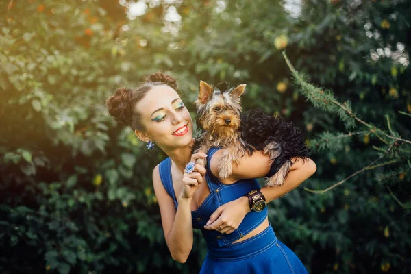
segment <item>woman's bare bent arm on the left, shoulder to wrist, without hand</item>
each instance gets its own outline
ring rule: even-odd
[[[174,201],[164,189],[158,166],[153,170],[153,186],[160,206],[162,227],[171,257],[177,262],[186,262],[192,249],[191,198],[179,199],[177,210]]]

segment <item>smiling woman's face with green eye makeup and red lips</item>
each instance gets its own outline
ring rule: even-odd
[[[169,86],[154,86],[136,104],[145,134],[162,149],[192,142],[192,119],[182,99]]]

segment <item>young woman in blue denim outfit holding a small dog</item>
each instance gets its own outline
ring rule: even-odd
[[[199,228],[208,246],[201,273],[307,273],[276,238],[264,200],[269,203],[299,186],[316,171],[314,162],[294,158],[283,186],[260,189],[253,178],[264,177],[270,166],[257,151],[233,165],[229,178],[220,179],[216,166],[223,149],[191,154],[192,119],[176,90],[175,79],[155,73],[134,90],[117,89],[106,102],[116,121],[132,127],[147,147],[155,143],[169,155],[155,166],[153,186],[173,259],[186,262],[192,229]],[[206,168],[186,168],[198,158],[206,158]]]

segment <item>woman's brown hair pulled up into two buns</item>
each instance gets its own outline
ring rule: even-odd
[[[145,83],[138,88],[117,88],[114,95],[105,100],[108,113],[122,125],[129,125],[132,129],[142,130],[141,114],[134,110],[136,103],[145,97],[153,86],[167,85],[177,91],[177,82],[169,75],[154,73],[145,79]]]

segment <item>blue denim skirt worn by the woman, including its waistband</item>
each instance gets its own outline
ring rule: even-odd
[[[200,274],[308,274],[294,252],[280,242],[269,225],[263,232],[223,247],[208,246]]]

